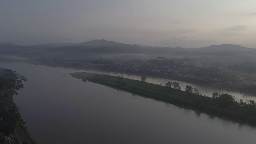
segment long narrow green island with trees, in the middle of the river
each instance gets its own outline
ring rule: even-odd
[[[229,94],[213,93],[212,97],[203,96],[199,90],[186,86],[185,91],[178,88],[177,82],[166,83],[166,86],[146,83],[143,80],[120,79],[116,76],[72,73],[72,76],[98,84],[118,88],[144,97],[163,102],[200,110],[207,114],[223,116],[240,122],[256,125],[256,102],[254,100],[236,101]]]

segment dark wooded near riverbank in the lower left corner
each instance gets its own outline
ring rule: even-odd
[[[13,102],[12,96],[17,77],[11,73],[12,70],[0,68],[0,143],[5,144],[6,138],[4,137],[7,136],[14,144],[19,142],[22,142],[22,144],[36,144],[36,141],[30,136],[16,104]]]

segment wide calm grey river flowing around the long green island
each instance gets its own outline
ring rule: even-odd
[[[96,72],[137,80],[140,76],[19,62],[0,63],[0,67],[28,79],[14,102],[38,144],[254,144],[256,140],[254,126],[83,82],[69,73]],[[147,78],[155,84],[168,81],[174,80]],[[179,83],[184,89],[186,83]],[[206,95],[227,92],[192,86]],[[238,99],[256,99],[228,93]]]

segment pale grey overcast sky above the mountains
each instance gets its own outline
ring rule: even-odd
[[[256,48],[256,0],[0,0],[0,42]]]

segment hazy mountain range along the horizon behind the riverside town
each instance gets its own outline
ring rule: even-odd
[[[29,58],[97,59],[124,55],[165,57],[239,57],[255,58],[256,49],[240,45],[222,44],[202,48],[152,47],[139,44],[122,44],[108,40],[92,40],[83,43],[40,44],[32,46],[0,45],[0,55]]]

